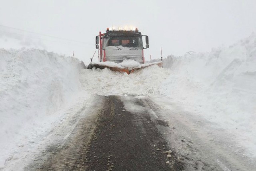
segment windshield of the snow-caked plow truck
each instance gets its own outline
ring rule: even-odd
[[[140,47],[140,37],[110,37],[106,38],[106,46]]]

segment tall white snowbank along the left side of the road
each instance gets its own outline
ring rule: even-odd
[[[0,49],[0,168],[45,131],[80,91],[79,60],[45,50]]]

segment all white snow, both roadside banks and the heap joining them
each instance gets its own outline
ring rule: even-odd
[[[38,144],[38,137],[69,114],[66,108],[81,103],[81,97],[87,103],[93,95],[150,96],[166,109],[175,104],[189,117],[231,132],[243,154],[255,158],[255,66],[255,34],[209,53],[168,56],[164,68],[151,66],[130,75],[83,70],[76,58],[44,50],[0,49],[0,168],[18,159],[20,148]]]

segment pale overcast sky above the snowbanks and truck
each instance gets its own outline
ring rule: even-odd
[[[67,56],[74,51],[85,63],[99,31],[134,26],[149,36],[150,48],[144,50],[149,60],[150,54],[160,58],[160,47],[164,57],[183,55],[250,36],[256,31],[256,0],[0,0],[0,25],[6,42],[0,48],[12,48],[6,47],[12,46],[8,37],[22,35],[48,51]]]

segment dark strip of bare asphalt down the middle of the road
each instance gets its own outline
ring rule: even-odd
[[[163,153],[169,147],[156,127],[162,122],[152,121],[149,113],[138,116],[126,111],[118,97],[105,98],[87,155],[83,156],[88,171],[183,170],[175,157]],[[140,100],[136,104],[142,105]]]

